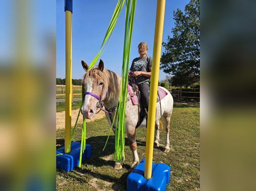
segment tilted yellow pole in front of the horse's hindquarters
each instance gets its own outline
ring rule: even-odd
[[[149,179],[152,176],[154,127],[155,127],[155,114],[156,114],[157,86],[158,86],[158,77],[159,77],[161,47],[162,47],[164,8],[165,8],[165,0],[158,0],[157,8],[156,8],[155,37],[154,37],[152,73],[151,73],[149,106],[148,106],[148,124],[147,124],[145,171],[144,171],[145,179]]]

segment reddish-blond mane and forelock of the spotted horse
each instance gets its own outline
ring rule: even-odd
[[[98,81],[103,82],[103,91],[100,93],[100,97],[102,97],[105,90],[107,90],[108,100],[118,99],[121,81],[120,76],[105,68],[101,71],[97,65],[85,73],[83,83],[87,82],[90,77],[93,81],[93,87],[97,85]]]

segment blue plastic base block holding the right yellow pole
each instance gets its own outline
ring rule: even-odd
[[[152,162],[152,177],[144,178],[145,158],[133,169],[127,177],[127,191],[153,191],[166,190],[170,180],[170,166],[163,163]]]

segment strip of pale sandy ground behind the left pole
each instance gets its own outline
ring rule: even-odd
[[[77,120],[77,115],[78,115],[79,109],[77,110],[72,110],[71,113],[71,127],[74,127],[76,120]],[[100,111],[99,113],[97,113],[93,119],[86,119],[87,122],[89,121],[93,121],[96,119],[100,119],[102,117],[105,117],[105,112],[104,111]],[[78,118],[78,124],[83,123],[83,115],[80,113],[79,118]],[[56,112],[56,129],[61,129],[61,128],[65,128],[65,111],[62,112]]]

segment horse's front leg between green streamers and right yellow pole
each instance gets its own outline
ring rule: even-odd
[[[134,169],[139,163],[139,157],[137,153],[137,143],[136,143],[136,130],[135,127],[127,128],[126,135],[129,141],[130,149],[133,154],[133,162],[130,166],[131,169]]]

